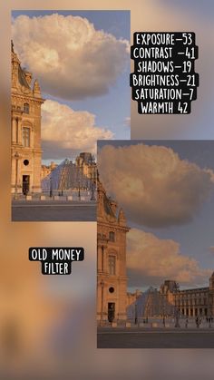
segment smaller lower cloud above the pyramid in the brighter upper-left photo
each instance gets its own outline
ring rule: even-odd
[[[72,157],[80,151],[96,151],[98,139],[112,139],[112,132],[95,126],[95,116],[73,111],[68,105],[46,100],[42,106],[44,159]]]

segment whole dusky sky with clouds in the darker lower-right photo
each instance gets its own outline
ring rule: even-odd
[[[99,141],[98,165],[128,225],[129,288],[209,285],[214,141]]]

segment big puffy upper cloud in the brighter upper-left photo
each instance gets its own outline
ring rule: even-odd
[[[73,15],[20,15],[12,26],[15,51],[45,93],[76,100],[109,91],[124,71],[129,43]]]

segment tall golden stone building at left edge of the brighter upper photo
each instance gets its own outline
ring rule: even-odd
[[[15,196],[41,191],[41,105],[37,80],[22,68],[11,44],[11,191]]]

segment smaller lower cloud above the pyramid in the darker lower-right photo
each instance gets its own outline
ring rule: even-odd
[[[194,258],[180,253],[180,244],[159,239],[140,229],[131,229],[127,236],[127,268],[131,287],[159,286],[164,279],[181,285],[208,283],[212,271],[199,268]]]

